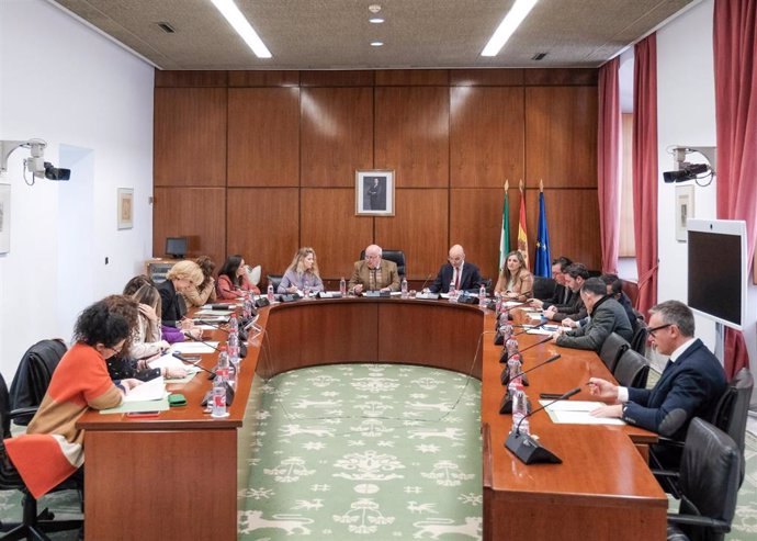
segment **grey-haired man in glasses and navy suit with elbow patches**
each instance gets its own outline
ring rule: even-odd
[[[682,440],[693,417],[710,419],[727,383],[720,361],[693,337],[691,309],[666,301],[649,311],[649,342],[670,360],[652,390],[626,388],[591,377],[591,394],[612,403],[592,412],[620,417],[662,436]]]

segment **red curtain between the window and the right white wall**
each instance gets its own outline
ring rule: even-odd
[[[633,214],[639,270],[636,308],[657,303],[657,36],[634,46]]]

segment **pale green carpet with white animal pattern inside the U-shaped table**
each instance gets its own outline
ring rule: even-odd
[[[240,540],[481,539],[478,381],[347,364],[253,393]]]

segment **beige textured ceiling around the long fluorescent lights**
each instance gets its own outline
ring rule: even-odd
[[[597,67],[694,0],[540,0],[493,58],[481,50],[513,0],[237,0],[270,59],[210,0],[50,1],[161,69],[231,70]],[[383,24],[369,22],[374,3]]]

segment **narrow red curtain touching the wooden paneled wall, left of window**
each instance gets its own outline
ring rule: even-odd
[[[618,273],[618,250],[620,247],[621,115],[619,68],[619,57],[599,68],[597,145],[599,228],[602,244],[602,271],[612,273]]]

